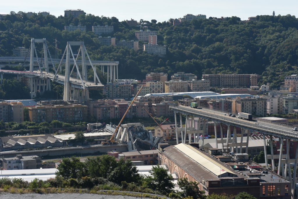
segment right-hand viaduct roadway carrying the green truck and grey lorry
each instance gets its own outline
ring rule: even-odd
[[[298,132],[293,131],[293,127],[291,126],[264,121],[257,118],[253,118],[252,121],[247,121],[238,118],[237,115],[236,117],[231,117],[228,115],[229,113],[227,112],[208,108],[195,109],[181,105],[178,107],[170,106],[169,108],[172,109],[174,112],[184,115],[192,115],[195,117],[209,119],[217,123],[223,123],[226,125],[262,132],[265,135],[273,135],[284,139],[292,139],[298,141]]]

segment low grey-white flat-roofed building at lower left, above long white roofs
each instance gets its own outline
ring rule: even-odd
[[[37,169],[41,165],[41,158],[37,155],[22,156],[16,155],[14,158],[3,158],[3,169]]]

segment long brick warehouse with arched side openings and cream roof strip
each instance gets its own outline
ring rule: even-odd
[[[179,178],[199,183],[206,195],[237,195],[247,192],[256,198],[291,198],[291,183],[269,172],[242,175],[194,146],[178,144],[159,150],[159,164]]]

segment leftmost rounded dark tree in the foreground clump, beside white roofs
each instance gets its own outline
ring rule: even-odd
[[[80,162],[80,159],[76,157],[63,158],[56,172],[56,176],[60,176],[64,179],[76,179],[86,176],[85,164]]]

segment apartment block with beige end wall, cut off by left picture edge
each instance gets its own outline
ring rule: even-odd
[[[21,102],[0,101],[0,120],[4,122],[24,121],[24,105]]]

